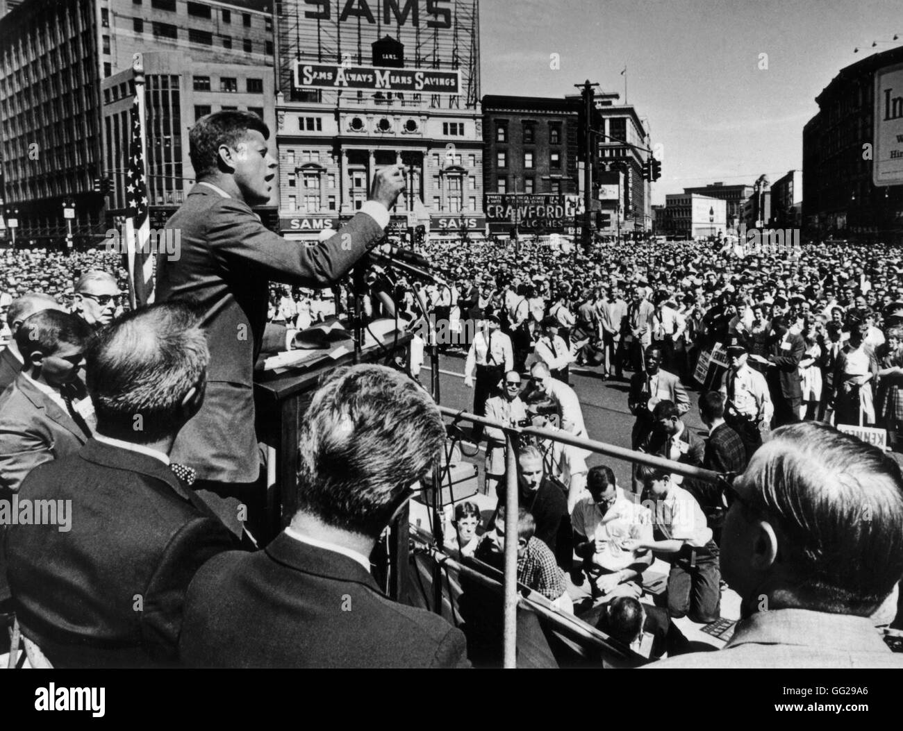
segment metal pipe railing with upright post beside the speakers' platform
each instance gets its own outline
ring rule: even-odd
[[[703,467],[694,467],[681,462],[675,462],[672,459],[656,457],[656,455],[646,454],[645,452],[634,451],[618,447],[605,442],[582,439],[574,437],[571,434],[562,431],[552,431],[547,429],[538,429],[536,427],[517,427],[509,426],[497,421],[491,421],[483,416],[474,413],[465,412],[457,409],[450,409],[447,406],[439,406],[439,411],[443,417],[452,418],[452,424],[460,421],[469,421],[473,424],[481,424],[484,427],[493,427],[501,430],[505,434],[506,441],[506,475],[505,475],[505,503],[507,505],[518,504],[517,489],[517,442],[522,437],[537,437],[542,440],[559,441],[563,444],[570,444],[573,447],[586,449],[597,454],[603,454],[607,457],[617,458],[633,462],[638,465],[647,465],[648,467],[660,467],[684,477],[692,477],[707,483],[717,483],[725,480],[726,475],[713,472],[711,469],[703,469]],[[437,468],[437,472],[439,469]],[[442,481],[438,479],[438,475],[433,482],[433,533],[437,538],[442,536]],[[505,534],[507,536],[517,535],[517,510],[505,511]],[[442,541],[436,541],[437,546],[442,546]],[[447,563],[449,559],[444,561],[437,560],[437,564]],[[456,568],[460,568],[460,564],[455,563]],[[441,581],[437,582],[441,593]],[[517,541],[505,541],[505,562],[503,572],[503,613],[504,613],[504,631],[502,638],[502,663],[505,668],[517,667]],[[435,588],[435,586],[434,586]],[[441,596],[441,594],[440,594]],[[452,597],[449,597],[450,601]],[[437,612],[442,612],[442,602],[435,602]],[[553,613],[546,613],[551,615]]]

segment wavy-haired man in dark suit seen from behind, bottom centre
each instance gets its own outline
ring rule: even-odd
[[[413,381],[340,368],[302,424],[298,505],[265,551],[215,557],[191,582],[182,660],[198,667],[466,667],[464,635],[396,604],[368,556],[445,438]]]

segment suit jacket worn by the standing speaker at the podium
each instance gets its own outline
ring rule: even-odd
[[[204,404],[179,433],[172,458],[197,469],[201,479],[253,482],[259,458],[252,375],[269,282],[325,287],[347,273],[383,229],[358,214],[321,244],[286,241],[246,203],[200,183],[166,227],[181,231],[181,249],[173,261],[158,254],[156,301],[197,302],[210,349]]]

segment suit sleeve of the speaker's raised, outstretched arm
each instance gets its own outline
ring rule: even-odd
[[[321,288],[335,282],[383,237],[383,229],[358,213],[329,239],[307,246],[267,229],[246,204],[222,199],[211,211],[207,238],[231,273],[265,275],[273,282]]]

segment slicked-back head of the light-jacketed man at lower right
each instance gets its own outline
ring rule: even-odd
[[[826,424],[788,425],[759,448],[735,489],[732,509],[747,524],[773,526],[777,554],[764,568],[750,561],[726,523],[729,583],[783,585],[801,608],[865,616],[903,577],[903,476],[880,449]]]

